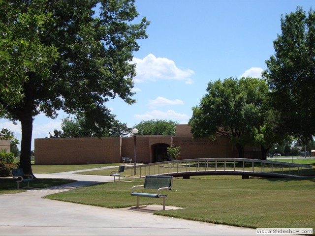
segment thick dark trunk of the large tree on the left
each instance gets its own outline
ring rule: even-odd
[[[31,148],[32,148],[32,129],[33,118],[32,113],[28,115],[24,114],[20,119],[22,126],[22,140],[21,140],[21,156],[20,156],[20,168],[23,169],[24,174],[32,175],[31,166]]]

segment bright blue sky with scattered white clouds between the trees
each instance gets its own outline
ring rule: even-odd
[[[210,81],[228,77],[260,77],[281,34],[281,15],[297,6],[309,11],[314,0],[136,0],[139,22],[151,21],[149,38],[134,53],[136,103],[109,101],[112,114],[128,127],[150,119],[187,124]],[[314,7],[313,7],[314,8]],[[33,139],[61,130],[57,119],[39,115]],[[0,119],[0,128],[21,140],[21,126]],[[32,149],[34,148],[32,142]]]

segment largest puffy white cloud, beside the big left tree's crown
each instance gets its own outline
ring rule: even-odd
[[[132,63],[136,64],[137,75],[135,82],[155,81],[157,79],[186,80],[192,83],[189,78],[194,72],[190,69],[182,70],[175,65],[173,60],[157,58],[149,54],[144,59],[133,58]],[[187,83],[186,82],[186,83]]]

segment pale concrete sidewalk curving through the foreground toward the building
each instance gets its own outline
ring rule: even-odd
[[[38,178],[73,178],[77,182],[34,189],[18,194],[0,195],[0,235],[256,235],[255,229],[215,225],[198,221],[153,215],[162,206],[146,210],[130,208],[109,209],[43,199],[58,193],[95,182],[113,181],[108,176],[58,173],[35,175]],[[88,194],[88,193],[87,193]],[[172,210],[172,207],[166,207]]]

